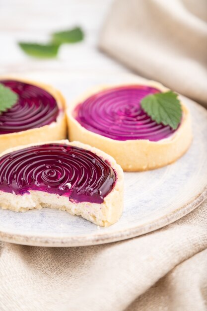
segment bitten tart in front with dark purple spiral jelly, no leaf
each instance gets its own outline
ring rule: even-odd
[[[122,214],[123,182],[111,156],[79,142],[30,144],[0,154],[0,207],[15,212],[49,207],[109,226]]]

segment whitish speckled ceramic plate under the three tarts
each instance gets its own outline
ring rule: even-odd
[[[143,82],[130,74],[33,72],[22,77],[58,87],[68,103],[97,84]],[[183,100],[193,119],[192,146],[186,155],[166,167],[125,173],[124,213],[117,224],[100,228],[81,217],[47,208],[26,213],[0,209],[0,239],[38,246],[101,244],[151,232],[194,210],[207,197],[207,110],[191,100]]]

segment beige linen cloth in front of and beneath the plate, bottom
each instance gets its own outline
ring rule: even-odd
[[[207,308],[207,201],[174,224],[126,241],[1,245],[0,311]]]

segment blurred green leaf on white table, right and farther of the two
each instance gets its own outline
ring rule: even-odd
[[[52,40],[56,44],[79,42],[83,40],[83,37],[84,34],[80,27],[75,27],[73,29],[60,32],[54,32],[52,34]]]

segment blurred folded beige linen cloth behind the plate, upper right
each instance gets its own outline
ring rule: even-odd
[[[207,106],[207,0],[116,0],[99,46]]]

